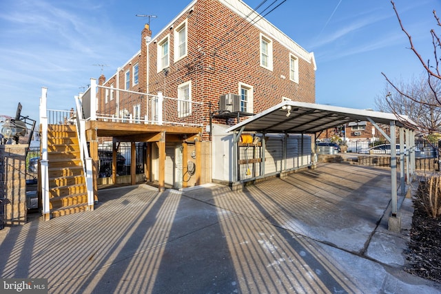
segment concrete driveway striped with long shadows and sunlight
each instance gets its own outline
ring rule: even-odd
[[[232,192],[99,191],[94,211],[0,231],[1,277],[49,293],[440,293],[402,271],[387,231],[390,171],[322,163]]]

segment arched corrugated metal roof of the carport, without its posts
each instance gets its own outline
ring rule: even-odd
[[[243,128],[245,132],[314,134],[324,129],[361,120],[386,125],[393,121],[398,127],[416,128],[416,124],[407,116],[365,109],[284,101],[226,131],[233,132]]]

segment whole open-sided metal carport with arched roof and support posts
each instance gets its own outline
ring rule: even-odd
[[[325,129],[362,120],[369,120],[391,145],[395,145],[398,139],[400,143],[400,196],[404,199],[415,172],[415,130],[417,128],[416,124],[407,116],[365,109],[284,101],[230,127],[226,132],[234,132],[232,156],[234,162],[237,162],[236,165],[239,165],[238,143],[243,138],[243,134],[261,134],[262,138],[265,138],[266,134],[285,134],[285,136],[288,134],[301,134],[302,136],[308,134],[316,136],[317,133]],[[380,125],[388,125],[390,134],[386,134]],[[262,145],[263,150],[265,150],[265,140],[262,140]],[[406,150],[404,150],[404,145],[407,146]],[[265,152],[262,152],[261,157],[262,162],[265,162]],[[315,156],[311,156],[311,158],[313,160],[311,165],[314,165]],[[238,170],[238,168],[234,169]],[[398,202],[397,176],[396,149],[391,148],[391,216],[389,218],[389,229],[392,231],[400,230],[398,211],[401,201]],[[234,180],[239,182],[237,173],[234,177]]]

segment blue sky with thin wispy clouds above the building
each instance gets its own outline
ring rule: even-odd
[[[263,6],[274,0],[267,1]],[[190,0],[0,0],[0,116],[39,120],[41,87],[48,109],[74,107],[90,78],[107,78],[139,49],[147,19],[153,36]],[[245,0],[256,8],[263,0]],[[424,60],[433,63],[430,30],[440,0],[395,0]],[[265,18],[316,58],[316,103],[376,109],[386,81],[411,81],[422,65],[409,50],[389,0],[276,0]],[[272,6],[272,8],[274,8]],[[267,10],[269,11],[269,10]],[[258,10],[260,12],[260,10]],[[266,12],[265,12],[266,13]]]

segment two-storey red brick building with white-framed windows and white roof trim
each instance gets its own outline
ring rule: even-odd
[[[210,109],[218,109],[221,95],[238,94],[241,111],[252,114],[283,99],[314,103],[315,70],[313,53],[243,1],[192,1],[154,36],[146,25],[139,52],[107,81],[100,77],[100,85],[131,92],[119,93],[116,110],[116,91],[101,91],[99,112],[143,118],[147,109],[136,105],[148,97],[136,92],[184,96],[203,103],[198,116],[186,115],[176,101],[165,103],[165,113],[177,114],[181,123],[203,125],[202,138],[208,140]],[[214,123],[236,121],[214,118]]]

